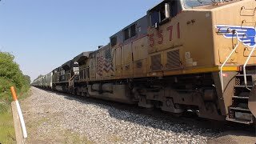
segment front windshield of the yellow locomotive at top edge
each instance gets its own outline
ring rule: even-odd
[[[185,8],[193,8],[197,6],[206,6],[214,3],[214,0],[183,0]]]

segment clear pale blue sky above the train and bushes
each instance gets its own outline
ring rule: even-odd
[[[14,54],[31,80],[106,45],[112,34],[161,0],[2,0],[0,50]]]

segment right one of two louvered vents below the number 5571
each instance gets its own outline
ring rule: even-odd
[[[171,50],[171,51],[167,52],[166,68],[169,70],[181,68],[181,60],[179,57],[179,50]]]

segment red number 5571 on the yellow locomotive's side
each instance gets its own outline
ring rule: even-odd
[[[177,28],[177,35],[174,35],[174,27]],[[166,30],[166,32],[169,34],[169,37],[163,36],[164,30]],[[165,38],[169,38],[169,41],[172,41],[173,38],[181,38],[179,22],[176,24],[176,26],[168,26],[164,30],[156,30],[156,34],[153,33],[148,35],[150,47],[154,47],[156,43],[158,43],[158,45],[162,45],[162,43],[166,40]]]

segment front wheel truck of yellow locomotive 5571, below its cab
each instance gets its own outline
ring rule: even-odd
[[[212,74],[155,79],[134,86],[138,106],[175,114],[192,111],[201,118],[224,120]]]

